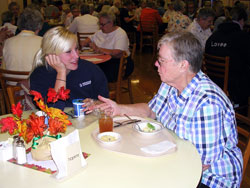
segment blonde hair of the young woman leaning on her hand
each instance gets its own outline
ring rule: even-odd
[[[77,45],[77,37],[64,27],[58,26],[48,30],[42,39],[41,49],[37,52],[33,70],[38,66],[48,67],[45,57],[49,54],[59,55],[71,50],[72,46]]]

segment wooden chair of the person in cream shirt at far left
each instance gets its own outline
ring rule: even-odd
[[[7,113],[11,113],[11,105],[7,93],[7,87],[16,85],[17,82],[25,80],[26,78],[21,77],[25,75],[28,77],[29,72],[0,69],[0,82],[3,89]]]

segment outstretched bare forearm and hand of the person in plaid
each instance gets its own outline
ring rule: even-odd
[[[104,98],[102,96],[98,96],[98,99],[103,103],[98,105],[99,108],[105,111],[111,111],[113,116],[116,115],[135,115],[141,117],[150,117],[155,119],[155,113],[148,107],[147,103],[137,103],[137,104],[117,104],[116,102]]]

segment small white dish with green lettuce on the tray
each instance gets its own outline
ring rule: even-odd
[[[150,126],[154,127],[154,130],[150,129],[148,127],[148,123],[150,124]],[[139,130],[138,126],[140,126],[140,130]],[[143,121],[143,122],[139,122],[137,124],[134,124],[133,128],[137,132],[139,132],[139,133],[141,133],[143,135],[155,135],[155,134],[159,133],[163,129],[163,126],[161,124],[159,124],[159,123],[156,123],[156,122]]]

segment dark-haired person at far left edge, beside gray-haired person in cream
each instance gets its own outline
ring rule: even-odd
[[[7,27],[9,31],[11,31],[14,36],[16,33],[17,26],[15,26],[15,17],[14,14],[10,11],[5,11],[2,13],[2,24],[3,27]]]

